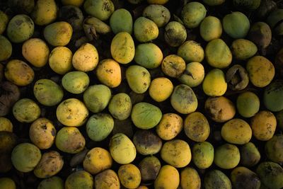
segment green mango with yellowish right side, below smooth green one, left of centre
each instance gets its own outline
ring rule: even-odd
[[[86,122],[86,133],[93,141],[99,142],[108,137],[114,127],[114,120],[107,113],[98,113],[91,116]]]

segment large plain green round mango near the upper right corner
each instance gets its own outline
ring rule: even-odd
[[[245,38],[248,30],[250,30],[248,17],[238,11],[226,14],[222,20],[222,25],[224,31],[235,39]]]

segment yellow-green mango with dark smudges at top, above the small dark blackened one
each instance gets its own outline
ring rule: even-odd
[[[197,28],[207,15],[207,9],[200,2],[194,1],[183,6],[181,19],[187,28]]]

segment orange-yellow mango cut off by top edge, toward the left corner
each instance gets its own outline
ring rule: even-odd
[[[57,18],[58,7],[54,0],[39,0],[31,13],[31,18],[37,25],[47,25]]]

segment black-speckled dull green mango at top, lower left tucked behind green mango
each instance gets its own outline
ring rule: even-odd
[[[146,6],[146,8],[144,8],[142,16],[149,18],[151,21],[154,21],[157,27],[161,28],[166,25],[166,23],[168,23],[171,18],[171,13],[168,8],[163,5],[150,4],[149,6]]]

